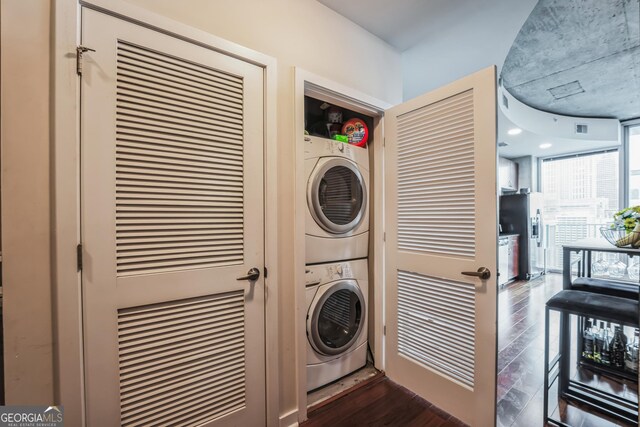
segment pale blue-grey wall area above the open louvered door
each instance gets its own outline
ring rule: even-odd
[[[414,98],[491,65],[499,71],[536,3],[450,2],[431,36],[402,53],[403,98]]]

